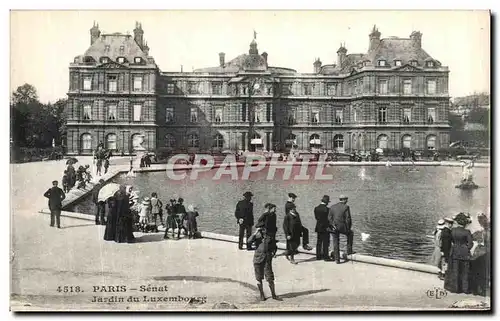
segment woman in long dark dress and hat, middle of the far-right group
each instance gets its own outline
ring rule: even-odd
[[[470,250],[473,243],[471,232],[465,228],[469,219],[464,213],[459,213],[455,222],[458,226],[451,230],[451,252],[444,288],[451,293],[470,293]]]

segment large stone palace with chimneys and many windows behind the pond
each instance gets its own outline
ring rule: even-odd
[[[134,35],[90,29],[90,47],[69,66],[68,154],[99,144],[147,150],[367,151],[449,145],[448,67],[422,34],[381,38],[366,53],[337,51],[312,73],[274,67],[257,42],[248,53],[193,72],[159,70],[140,23]]]

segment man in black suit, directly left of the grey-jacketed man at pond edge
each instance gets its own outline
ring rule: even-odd
[[[325,195],[321,199],[321,204],[314,208],[314,217],[316,218],[317,243],[316,243],[316,260],[331,261],[328,255],[328,247],[330,246],[330,222],[328,221],[328,208],[330,196]]]

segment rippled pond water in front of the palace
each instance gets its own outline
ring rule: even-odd
[[[113,181],[134,185],[140,196],[157,192],[164,204],[172,197],[182,197],[185,204],[199,207],[198,225],[201,231],[237,235],[234,209],[245,191],[254,194],[255,220],[264,211],[264,204],[278,206],[278,238],[284,241],[284,205],[289,192],[295,193],[297,209],[303,224],[309,229],[311,246],[315,247],[314,207],[323,195],[329,195],[331,204],[340,194],[349,197],[348,205],[354,230],[354,251],[378,257],[428,263],[433,251],[431,235],[438,219],[460,211],[475,216],[489,206],[490,169],[475,168],[474,181],[477,190],[464,191],[455,188],[461,178],[459,167],[408,167],[393,166],[334,166],[323,170],[333,175],[331,180],[284,180],[283,170],[277,170],[273,180],[267,180],[269,168],[252,173],[248,180],[233,180],[228,175],[214,180],[217,170],[200,173],[196,180],[188,177],[171,180],[165,172],[138,173],[134,178],[117,176]],[[238,168],[241,177],[243,168]],[[291,177],[300,167],[292,169]],[[310,166],[307,173],[314,176],[316,168]],[[81,213],[94,213],[93,204],[87,197],[72,209]],[[361,233],[370,234],[361,241]],[[345,248],[345,241],[341,244]]]

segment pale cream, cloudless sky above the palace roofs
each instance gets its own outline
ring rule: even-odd
[[[373,25],[382,38],[422,35],[422,47],[450,69],[451,97],[490,92],[487,11],[12,11],[10,91],[29,83],[40,101],[68,90],[69,64],[90,46],[90,28],[133,34],[142,23],[150,55],[162,71],[217,66],[248,53],[257,32],[259,53],[272,66],[311,73],[313,62],[336,63],[337,49],[365,53]]]

